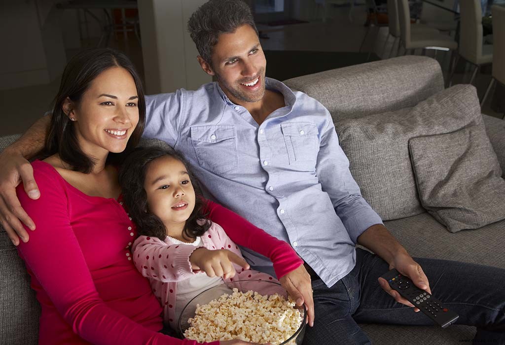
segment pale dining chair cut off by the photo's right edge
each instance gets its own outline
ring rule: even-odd
[[[493,5],[491,8],[493,18],[493,68],[491,73],[491,81],[487,87],[484,98],[480,105],[486,101],[493,84],[498,81],[505,85],[505,7]],[[505,118],[505,114],[503,114]]]

